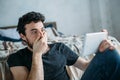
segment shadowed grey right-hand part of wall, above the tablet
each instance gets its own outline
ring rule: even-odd
[[[120,0],[91,0],[90,15],[94,31],[107,29],[120,41]]]

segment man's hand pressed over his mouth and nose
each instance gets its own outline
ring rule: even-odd
[[[40,53],[43,54],[46,52],[48,48],[47,45],[47,33],[44,32],[42,37],[37,37],[37,39],[35,40],[34,44],[33,44],[33,53]]]

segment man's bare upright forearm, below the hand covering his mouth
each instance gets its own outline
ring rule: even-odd
[[[31,71],[27,80],[44,80],[42,56],[33,55]]]

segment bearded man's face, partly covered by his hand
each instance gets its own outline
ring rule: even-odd
[[[36,38],[39,36],[40,38],[43,37],[45,33],[44,25],[41,21],[35,23],[31,22],[25,25],[25,33],[26,35],[22,35],[22,39],[26,41],[30,48],[33,47],[33,43]]]

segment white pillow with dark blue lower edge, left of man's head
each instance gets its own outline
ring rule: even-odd
[[[21,41],[16,28],[0,29],[0,40]]]

